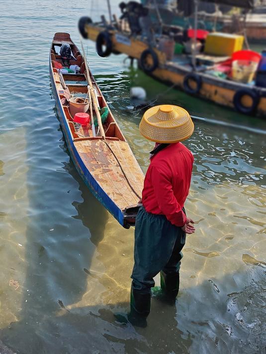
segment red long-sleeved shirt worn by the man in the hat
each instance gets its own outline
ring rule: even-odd
[[[151,158],[142,203],[147,212],[164,214],[174,225],[186,222],[182,211],[189,192],[193,155],[181,142],[172,143]]]

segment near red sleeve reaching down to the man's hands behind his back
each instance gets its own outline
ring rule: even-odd
[[[153,166],[151,180],[162,213],[172,224],[183,226],[186,223],[186,216],[174,195],[171,178],[161,168]]]

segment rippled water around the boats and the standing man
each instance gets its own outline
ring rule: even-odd
[[[118,1],[113,1],[112,6]],[[105,2],[92,1],[99,16]],[[1,3],[0,340],[19,354],[266,353],[266,138],[195,122],[186,203],[197,230],[187,238],[177,306],[155,298],[146,329],[115,321],[129,306],[134,230],[90,194],[67,150],[51,92],[48,53],[57,31],[78,43],[91,2]],[[258,119],[193,99],[123,64],[89,64],[140,165],[151,144],[129,88],[194,115]],[[158,278],[156,279],[158,284]],[[0,344],[0,352],[2,351]]]

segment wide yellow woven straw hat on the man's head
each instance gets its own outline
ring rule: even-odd
[[[172,143],[188,139],[194,131],[194,124],[185,109],[165,104],[148,109],[139,129],[152,142]]]

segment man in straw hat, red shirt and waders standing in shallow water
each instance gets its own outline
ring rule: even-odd
[[[194,221],[183,208],[189,193],[193,155],[181,143],[193,131],[188,112],[172,105],[148,109],[140,123],[140,133],[156,145],[145,176],[143,206],[136,218],[129,314],[132,323],[139,319],[146,323],[153,278],[159,272],[165,298],[173,303],[177,297],[185,234],[195,231]]]

